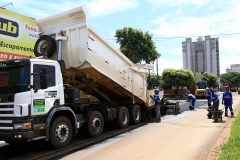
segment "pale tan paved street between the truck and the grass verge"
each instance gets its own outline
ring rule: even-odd
[[[236,113],[240,96],[236,93],[233,95]],[[205,160],[232,118],[223,117],[223,121],[217,123],[208,119],[206,100],[197,100],[195,111],[188,111],[188,103],[185,101],[181,101],[180,107],[181,114],[165,116],[162,123],[150,123],[63,159]],[[219,109],[222,108],[220,105]]]

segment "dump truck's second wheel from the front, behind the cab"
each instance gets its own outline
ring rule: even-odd
[[[88,132],[92,137],[102,134],[104,121],[102,114],[98,111],[90,111],[88,113]]]

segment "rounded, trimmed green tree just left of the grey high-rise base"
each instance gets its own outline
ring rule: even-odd
[[[184,69],[164,69],[161,76],[161,84],[163,88],[187,86],[191,87],[195,83],[194,74],[190,70]]]

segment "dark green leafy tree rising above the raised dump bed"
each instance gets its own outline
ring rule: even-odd
[[[120,51],[133,63],[150,63],[161,56],[152,41],[152,35],[140,29],[125,27],[116,31],[115,37]]]

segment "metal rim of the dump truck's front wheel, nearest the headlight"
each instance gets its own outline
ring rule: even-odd
[[[58,124],[55,132],[56,138],[59,142],[64,142],[68,138],[69,128],[66,123],[62,122]]]

